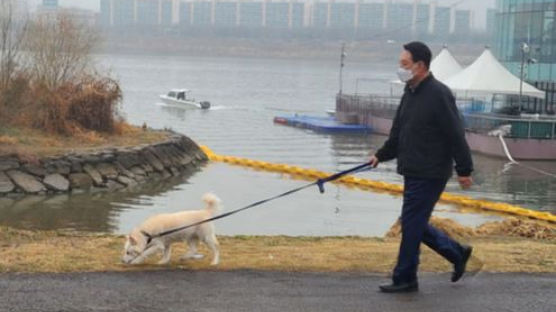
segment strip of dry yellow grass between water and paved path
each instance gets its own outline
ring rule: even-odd
[[[221,263],[209,265],[210,256],[180,261],[185,252],[176,244],[169,265],[156,265],[155,256],[145,265],[119,262],[122,236],[30,232],[0,228],[0,272],[129,271],[181,268],[188,270],[278,270],[309,272],[390,272],[398,252],[395,238],[360,237],[219,237]],[[518,237],[473,237],[471,271],[556,272],[556,241]],[[451,265],[422,248],[421,270],[449,272]],[[209,255],[206,248],[201,252]]]

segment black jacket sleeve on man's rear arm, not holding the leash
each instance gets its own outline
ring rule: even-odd
[[[441,101],[438,101],[438,103],[440,105],[436,118],[440,123],[442,131],[452,144],[452,156],[456,162],[456,172],[460,177],[469,176],[473,171],[473,160],[469,145],[465,140],[462,117],[459,114],[452,92],[445,90]]]

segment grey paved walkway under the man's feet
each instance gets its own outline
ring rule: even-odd
[[[556,311],[556,274],[490,274],[382,294],[379,275],[258,271],[0,274],[0,311]]]

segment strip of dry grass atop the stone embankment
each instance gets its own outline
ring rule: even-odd
[[[116,129],[116,134],[81,131],[67,137],[30,128],[0,126],[0,156],[17,155],[21,159],[37,159],[69,152],[151,144],[169,137],[165,131],[143,130],[123,122],[117,123]]]

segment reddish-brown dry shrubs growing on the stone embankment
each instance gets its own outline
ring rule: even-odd
[[[0,121],[65,136],[116,133],[121,98],[118,82],[106,77],[82,75],[49,88],[21,74],[0,90]]]

